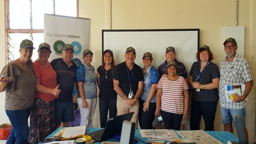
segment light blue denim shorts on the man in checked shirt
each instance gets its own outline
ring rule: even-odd
[[[245,127],[245,116],[246,116],[246,109],[226,109],[221,107],[221,117],[223,124],[232,124],[232,121],[236,116],[239,116],[242,121],[243,127]]]

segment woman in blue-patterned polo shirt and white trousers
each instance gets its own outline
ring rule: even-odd
[[[91,65],[93,52],[83,51],[84,63],[76,71],[79,94],[77,103],[80,109],[80,126],[93,127],[93,117],[97,104],[97,76],[95,68]]]

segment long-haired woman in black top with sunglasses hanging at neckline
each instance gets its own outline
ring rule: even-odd
[[[102,55],[102,65],[97,69],[100,109],[100,127],[104,128],[109,118],[117,115],[117,92],[113,85],[113,70],[115,60],[111,50],[105,50]]]

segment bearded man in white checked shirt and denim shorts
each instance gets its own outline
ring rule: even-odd
[[[224,50],[226,57],[220,62],[220,82],[219,82],[219,100],[221,104],[221,116],[224,124],[224,131],[233,133],[232,119],[239,115],[241,118],[245,138],[248,141],[248,132],[245,127],[246,101],[245,98],[250,93],[253,86],[253,79],[248,61],[236,53],[237,43],[234,38],[228,38],[224,41]],[[233,94],[236,98],[228,102],[225,98],[225,85],[245,84],[245,90],[242,96]]]

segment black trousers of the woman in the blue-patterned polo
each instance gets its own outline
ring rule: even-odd
[[[139,126],[141,129],[152,129],[155,120],[156,103],[149,103],[148,111],[143,111],[143,103],[145,101],[139,99]]]

